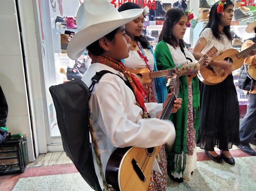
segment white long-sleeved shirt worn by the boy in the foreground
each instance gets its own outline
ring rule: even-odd
[[[109,66],[94,63],[90,65],[82,81],[89,87],[91,78],[101,70],[109,70],[125,79],[123,73]],[[145,106],[151,115],[149,119],[142,119],[142,109],[136,104],[133,91],[117,75],[107,73],[95,85],[89,100],[89,108],[104,174],[109,157],[116,147],[147,148],[174,141],[173,123],[156,118],[162,110],[162,104],[145,103]],[[94,154],[93,157],[95,171],[103,189]],[[158,164],[156,165],[158,167]]]

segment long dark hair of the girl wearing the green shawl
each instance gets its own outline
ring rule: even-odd
[[[187,13],[180,8],[170,8],[166,12],[166,19],[165,22],[163,22],[163,28],[159,35],[158,42],[161,40],[164,40],[174,48],[176,48],[178,45],[180,47],[185,47],[185,42],[183,39],[179,39],[179,42],[175,39],[175,37],[172,35],[172,29],[177,22],[181,19],[182,16],[187,15]]]

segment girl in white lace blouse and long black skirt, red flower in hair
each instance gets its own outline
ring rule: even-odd
[[[193,55],[199,59],[202,54],[215,46],[216,55],[231,49],[230,23],[233,16],[233,3],[222,0],[213,4],[209,22],[201,32],[193,49]],[[215,162],[234,165],[235,161],[229,149],[233,144],[239,144],[239,105],[237,92],[233,83],[231,63],[228,60],[212,59],[210,66],[222,68],[228,74],[226,79],[216,85],[201,84],[200,90],[200,119],[197,146]],[[219,156],[214,147],[221,150]]]

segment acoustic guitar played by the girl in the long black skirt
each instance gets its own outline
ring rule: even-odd
[[[228,49],[221,55],[212,57],[212,59],[216,61],[229,59],[229,63],[232,64],[232,71],[234,71],[243,65],[245,56],[255,48],[256,44],[241,52],[238,52],[236,49]],[[225,80],[228,75],[228,73],[224,72],[224,69],[208,65],[207,67],[200,68],[197,76],[202,83],[215,85]]]

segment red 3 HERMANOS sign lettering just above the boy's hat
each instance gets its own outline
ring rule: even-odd
[[[142,8],[145,6],[148,6],[149,9],[156,9],[156,1],[155,0],[109,0],[114,6],[116,7],[120,7],[122,4],[126,3],[126,2],[132,2],[132,3],[136,3],[139,6],[141,6]]]

